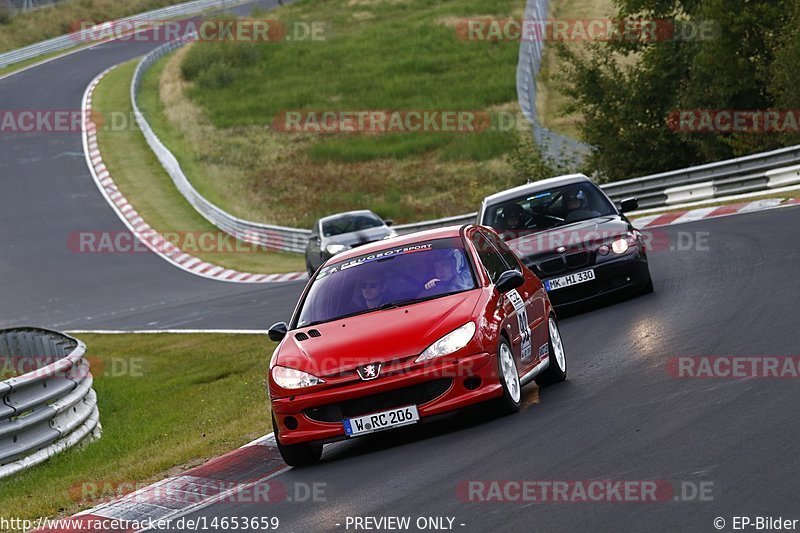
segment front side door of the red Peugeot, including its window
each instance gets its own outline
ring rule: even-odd
[[[483,268],[489,275],[492,283],[497,283],[500,275],[511,267],[506,263],[500,252],[489,241],[486,233],[476,231],[472,234],[472,244],[478,253]],[[517,268],[517,267],[513,267]],[[504,319],[501,327],[509,334],[511,339],[511,352],[517,365],[517,370],[522,375],[524,371],[531,368],[533,361],[533,349],[530,338],[530,330],[527,326],[528,316],[527,307],[523,304],[524,300],[518,294],[519,289],[500,295],[500,305],[503,308]]]

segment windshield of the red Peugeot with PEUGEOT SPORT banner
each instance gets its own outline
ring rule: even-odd
[[[295,327],[408,305],[475,287],[472,267],[460,238],[387,248],[320,270]]]

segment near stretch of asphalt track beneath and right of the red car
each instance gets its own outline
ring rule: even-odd
[[[528,387],[517,415],[474,409],[337,443],[321,464],[272,480],[289,494],[325,483],[325,503],[226,502],[189,517],[277,516],[284,531],[344,531],[347,516],[450,516],[456,531],[544,532],[715,531],[716,517],[800,518],[791,515],[796,380],[667,371],[676,356],[798,355],[798,225],[800,209],[789,208],[664,228],[673,243],[678,232],[707,232],[708,249],[652,253],[654,294],[563,320],[569,380],[541,390],[538,404]],[[469,480],[596,479],[710,482],[713,501],[477,503],[457,492]]]

